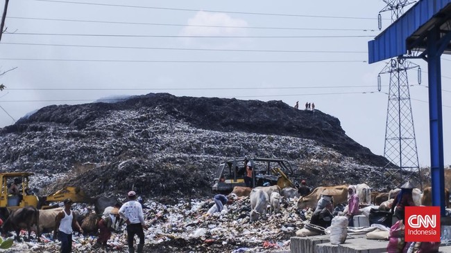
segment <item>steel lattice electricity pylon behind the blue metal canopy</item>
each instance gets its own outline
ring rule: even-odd
[[[391,11],[391,21],[404,13],[404,7],[415,1],[383,0],[387,6],[379,12],[378,25],[382,28],[381,12]],[[390,74],[389,102],[386,111],[384,157],[391,163],[382,170],[383,182],[399,187],[406,180],[416,182],[423,188],[418,164],[418,151],[414,129],[414,118],[410,102],[407,71],[418,68],[418,84],[421,83],[421,68],[403,59],[393,58],[377,76],[377,89],[381,91],[380,75]]]

